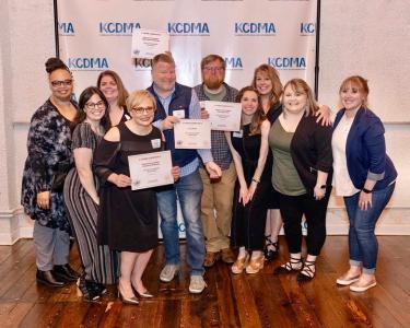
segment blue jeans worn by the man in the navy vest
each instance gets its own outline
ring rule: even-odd
[[[198,169],[180,177],[172,188],[156,194],[161,216],[161,232],[164,238],[165,260],[179,265],[179,236],[177,225],[177,198],[185,224],[187,238],[187,262],[191,276],[204,273],[206,254],[201,222],[202,180]]]

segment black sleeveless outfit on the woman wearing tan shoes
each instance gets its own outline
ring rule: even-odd
[[[246,185],[249,187],[258,166],[261,136],[249,136],[250,125],[243,126],[242,137],[231,132],[231,141],[242,159],[242,166]],[[265,245],[265,224],[271,195],[272,156],[268,154],[260,183],[258,184],[251,201],[245,207],[238,202],[241,185],[235,184],[231,243],[234,247],[245,246],[249,250],[261,250]]]

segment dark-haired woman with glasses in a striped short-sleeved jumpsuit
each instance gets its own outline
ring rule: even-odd
[[[86,300],[105,293],[104,284],[116,282],[117,256],[98,246],[96,225],[98,184],[92,172],[93,153],[105,133],[108,102],[98,87],[90,86],[80,95],[79,125],[72,134],[75,167],[65,183],[65,200],[75,232],[84,274],[78,285]]]

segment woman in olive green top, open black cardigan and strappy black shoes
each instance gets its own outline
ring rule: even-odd
[[[326,211],[331,191],[331,127],[316,122],[318,106],[307,83],[289,81],[283,112],[273,121],[269,145],[273,153],[272,185],[280,195],[280,211],[291,254],[274,273],[302,271],[298,281],[315,276],[315,261],[326,238]],[[307,221],[307,258],[303,262],[302,216]]]

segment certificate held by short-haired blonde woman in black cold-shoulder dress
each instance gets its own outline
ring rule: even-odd
[[[128,165],[132,190],[174,184],[171,151],[128,156]]]

